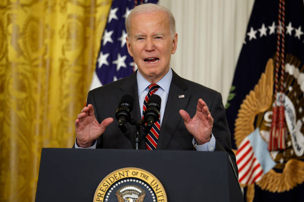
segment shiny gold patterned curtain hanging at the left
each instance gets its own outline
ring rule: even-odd
[[[71,148],[112,0],[0,0],[0,202],[33,202],[43,147]]]

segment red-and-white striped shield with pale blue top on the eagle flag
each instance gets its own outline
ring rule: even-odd
[[[261,180],[263,174],[276,165],[267,150],[267,143],[260,136],[259,128],[244,138],[239,145],[236,152],[236,164],[238,181],[246,185]]]

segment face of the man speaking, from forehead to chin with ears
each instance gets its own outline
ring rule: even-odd
[[[172,39],[168,18],[163,11],[131,18],[130,36],[126,38],[128,51],[140,73],[151,83],[168,72],[171,54],[177,47],[177,34]]]

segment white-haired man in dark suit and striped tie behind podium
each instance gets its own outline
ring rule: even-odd
[[[88,93],[88,105],[75,121],[75,147],[132,149],[113,117],[121,97],[129,94],[135,100],[131,117],[141,120],[149,92],[161,97],[160,119],[140,149],[226,151],[235,161],[221,94],[170,68],[177,48],[172,13],[160,5],[142,4],[131,11],[126,28],[127,48],[138,71]],[[135,134],[134,126],[127,127]]]

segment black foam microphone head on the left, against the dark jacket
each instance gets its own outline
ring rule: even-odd
[[[131,111],[133,109],[133,98],[130,95],[124,95],[116,110],[115,117],[118,120],[118,125],[124,125],[131,120]]]

